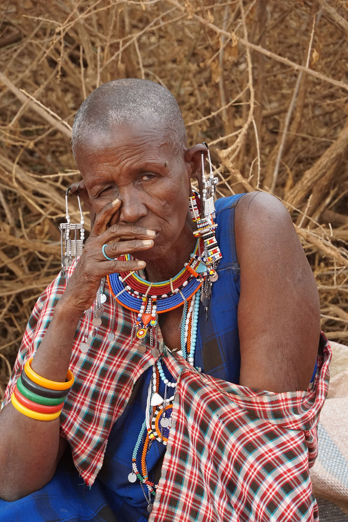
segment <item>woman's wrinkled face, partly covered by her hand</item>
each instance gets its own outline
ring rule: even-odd
[[[116,127],[109,135],[86,138],[76,161],[89,198],[91,220],[118,198],[119,212],[110,221],[132,223],[156,232],[154,246],[137,252],[151,260],[192,242],[188,217],[190,161],[186,149],[175,152],[158,129]]]

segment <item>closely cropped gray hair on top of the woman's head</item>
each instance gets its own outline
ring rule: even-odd
[[[150,80],[123,78],[95,89],[78,109],[71,138],[74,156],[88,135],[139,123],[166,133],[176,152],[187,144],[185,124],[173,94]]]

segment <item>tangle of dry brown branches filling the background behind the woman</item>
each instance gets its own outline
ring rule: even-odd
[[[161,82],[223,195],[273,192],[313,267],[329,339],[348,339],[347,2],[3,0],[0,395],[57,274],[76,109],[119,77]],[[76,209],[77,210],[77,209]],[[77,216],[77,213],[76,213]]]

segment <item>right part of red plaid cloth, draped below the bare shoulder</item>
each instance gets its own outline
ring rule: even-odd
[[[149,521],[318,521],[308,468],[330,359],[327,343],[307,392],[273,394],[199,374],[168,354],[179,382]]]

